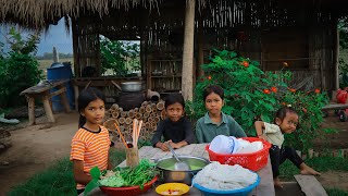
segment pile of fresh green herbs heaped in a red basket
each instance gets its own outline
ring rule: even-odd
[[[115,168],[111,172],[100,171],[98,167],[95,167],[89,173],[92,180],[87,184],[85,195],[99,186],[139,186],[144,188],[144,184],[150,182],[159,171],[156,169],[156,163],[151,163],[148,159],[141,159],[139,164],[134,168]]]

